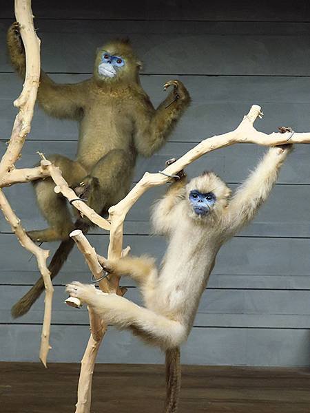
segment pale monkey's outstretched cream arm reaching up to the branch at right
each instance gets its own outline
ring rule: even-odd
[[[276,183],[280,167],[292,150],[292,145],[271,147],[249,178],[237,189],[229,202],[225,226],[234,235],[250,222],[259,207],[267,200]]]

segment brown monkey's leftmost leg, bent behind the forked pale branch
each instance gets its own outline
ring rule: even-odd
[[[63,178],[70,187],[76,186],[85,176],[85,169],[78,162],[65,158],[65,156],[53,155],[48,156],[48,159],[61,169]],[[69,233],[74,229],[67,200],[63,195],[56,194],[54,187],[55,184],[50,178],[34,182],[39,209],[45,220],[50,224],[47,229],[28,232],[28,235],[34,241],[67,240]]]

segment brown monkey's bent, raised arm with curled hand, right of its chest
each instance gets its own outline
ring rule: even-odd
[[[167,140],[176,122],[190,103],[189,93],[180,81],[169,81],[174,90],[155,110],[147,96],[141,95],[134,107],[135,145],[138,153],[152,156]]]

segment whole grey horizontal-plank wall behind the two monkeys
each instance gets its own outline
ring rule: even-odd
[[[192,94],[167,145],[152,159],[141,159],[135,181],[157,171],[202,138],[236,127],[253,103],[262,105],[262,131],[280,125],[310,130],[310,11],[307,1],[102,1],[63,0],[59,6],[33,1],[42,40],[42,66],[59,82],[76,82],[92,72],[93,56],[106,39],[127,35],[145,63],[143,87],[158,104],[163,83],[180,78]],[[233,5],[233,6],[231,6]],[[0,151],[6,149],[21,80],[5,53],[10,2],[0,15]],[[33,165],[36,151],[74,156],[76,125],[36,110],[19,166]],[[214,169],[234,189],[253,169],[264,149],[236,145],[198,160],[190,176]],[[310,146],[296,147],[258,218],[223,247],[203,295],[195,326],[183,347],[183,363],[256,366],[308,366],[310,328]],[[165,242],[149,236],[149,207],[163,188],[146,193],[125,225],[132,253],[158,260]],[[27,229],[43,226],[31,185],[6,190]],[[90,241],[105,253],[107,235]],[[48,245],[53,252],[56,245]],[[10,307],[37,279],[35,260],[0,220],[0,359],[37,361],[43,299],[25,317],[13,320]],[[63,304],[63,284],[90,275],[76,251],[55,280],[50,361],[79,361],[88,337],[87,313]],[[140,301],[125,281],[128,297]],[[99,361],[159,363],[163,355],[127,332],[111,329]]]

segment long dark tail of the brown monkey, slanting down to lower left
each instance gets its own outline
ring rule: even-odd
[[[87,230],[89,229],[89,226],[85,225],[85,223],[81,223],[81,220],[76,220],[76,222],[74,223],[74,226],[76,228],[82,229],[84,233],[86,233]],[[52,261],[50,262],[50,265],[48,266],[51,279],[56,277],[56,275],[61,270],[61,267],[67,260],[70,252],[72,251],[73,246],[74,246],[74,240],[72,240],[72,238],[69,238],[68,240],[62,241],[59,247],[56,249],[56,252],[54,253],[52,257]],[[21,297],[21,299],[17,301],[17,303],[14,304],[14,306],[12,306],[11,308],[12,317],[17,318],[17,317],[21,317],[22,315],[25,315],[26,313],[28,313],[28,311],[32,307],[32,304],[34,304],[34,302],[37,301],[37,299],[40,297],[43,290],[44,290],[44,282],[43,282],[43,278],[40,277],[37,280],[36,284],[34,284],[32,288],[30,288],[28,293],[25,293],[25,295]]]

